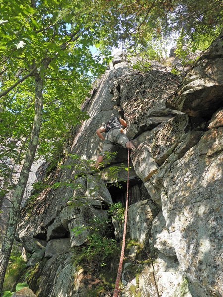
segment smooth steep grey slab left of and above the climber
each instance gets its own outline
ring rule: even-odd
[[[97,92],[86,104],[84,111],[90,118],[80,126],[71,147],[72,153],[85,158],[96,158],[102,149],[103,142],[96,135],[96,130],[107,122],[112,116],[119,116],[119,110],[114,100],[114,82],[117,78],[129,76],[135,73],[127,67],[117,70],[106,70],[98,82]]]

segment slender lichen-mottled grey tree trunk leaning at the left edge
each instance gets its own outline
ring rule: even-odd
[[[18,184],[14,190],[13,207],[10,209],[8,224],[0,250],[0,292],[2,291],[4,277],[10,258],[15,232],[20,215],[20,206],[29,178],[29,172],[36,154],[40,127],[42,123],[43,109],[43,80],[38,74],[35,75],[35,114],[29,146],[22,166]]]

